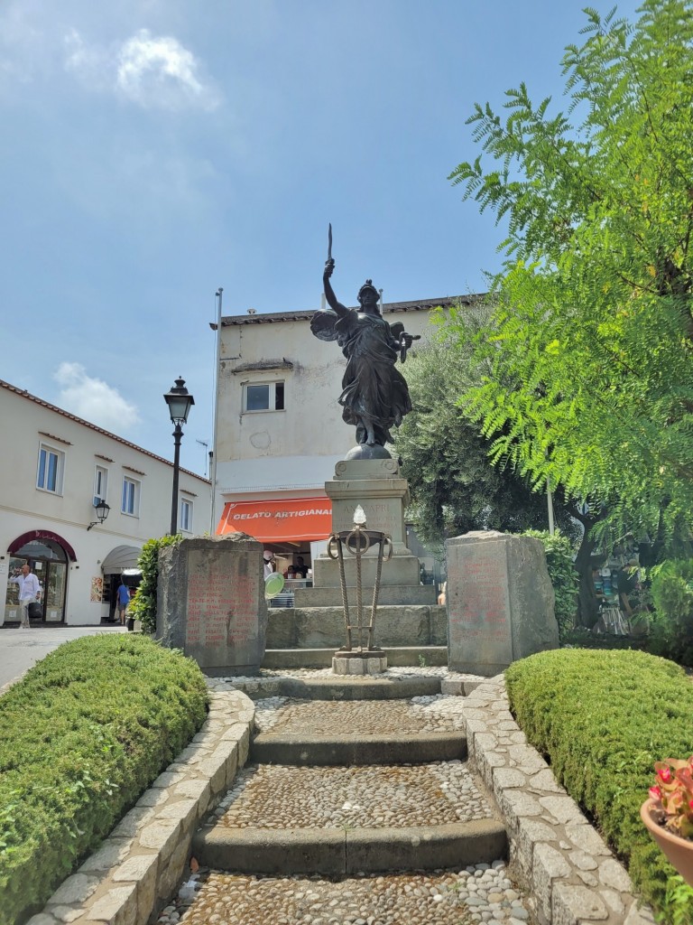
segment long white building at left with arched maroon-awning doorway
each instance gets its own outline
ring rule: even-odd
[[[1,379],[0,419],[0,624],[18,622],[8,578],[24,562],[42,586],[32,624],[112,618],[121,575],[136,568],[148,539],[170,529],[173,464]],[[98,499],[109,508],[103,523]],[[209,530],[211,504],[210,481],[181,469],[179,532]]]

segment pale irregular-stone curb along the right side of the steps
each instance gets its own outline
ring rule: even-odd
[[[626,869],[528,745],[510,713],[504,676],[466,693],[469,763],[495,797],[510,861],[539,925],[653,925]]]

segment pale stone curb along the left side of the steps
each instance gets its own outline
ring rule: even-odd
[[[201,731],[28,925],[144,925],[174,892],[192,835],[248,759],[255,707],[215,682]]]

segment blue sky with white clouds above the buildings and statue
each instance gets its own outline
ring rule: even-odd
[[[564,107],[581,6],[4,0],[0,377],[170,459],[182,375],[203,474],[217,287],[224,314],[317,309],[331,221],[346,304],[365,277],[484,290],[502,232],[447,180],[465,120],[521,80]]]

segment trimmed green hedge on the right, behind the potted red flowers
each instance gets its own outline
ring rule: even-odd
[[[667,897],[675,870],[639,818],[654,762],[693,754],[685,672],[644,652],[558,649],[515,662],[505,680],[529,742],[625,860],[642,897],[665,919],[690,921]]]

